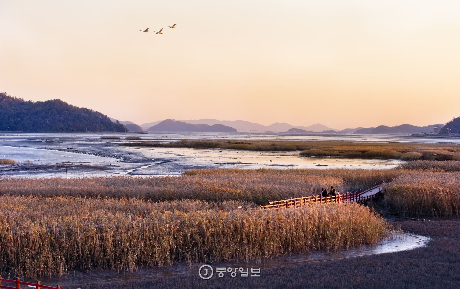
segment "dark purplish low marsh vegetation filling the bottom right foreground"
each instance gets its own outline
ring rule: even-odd
[[[460,220],[392,222],[404,232],[430,236],[427,246],[391,254],[367,255],[325,262],[262,268],[261,278],[223,278],[203,281],[198,274],[180,277],[66,285],[66,289],[428,289],[459,288]],[[259,266],[257,266],[259,267]],[[198,284],[198,285],[197,285]],[[403,285],[402,285],[403,284]]]

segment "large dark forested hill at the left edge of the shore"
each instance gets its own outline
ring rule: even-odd
[[[107,115],[60,99],[24,101],[0,93],[0,131],[125,131]]]

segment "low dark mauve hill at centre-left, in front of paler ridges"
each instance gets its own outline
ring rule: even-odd
[[[147,131],[162,132],[236,132],[236,129],[226,125],[188,124],[183,121],[165,119],[151,126]]]

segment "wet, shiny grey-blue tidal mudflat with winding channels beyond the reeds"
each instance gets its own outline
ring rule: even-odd
[[[134,134],[117,134],[121,139]],[[183,135],[135,134],[160,142]],[[106,134],[0,134],[0,176],[86,177],[180,175],[190,169],[218,168],[350,168],[389,169],[403,162],[391,159],[299,156],[299,152],[258,152],[229,149],[121,147],[120,140],[101,139]],[[200,135],[201,136],[201,135]],[[203,136],[201,136],[203,137]],[[220,139],[219,134],[206,135]],[[229,136],[225,136],[229,137]],[[234,138],[248,136],[233,135]],[[266,138],[267,136],[259,136]],[[272,136],[278,139],[279,136]]]

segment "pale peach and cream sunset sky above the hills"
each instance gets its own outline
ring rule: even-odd
[[[0,1],[0,91],[138,125],[444,124],[460,115],[459,11],[456,1]]]

